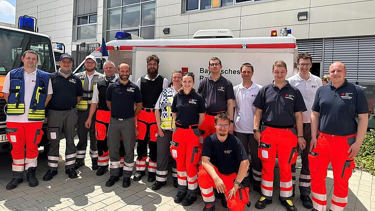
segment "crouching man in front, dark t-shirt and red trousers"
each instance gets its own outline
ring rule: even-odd
[[[246,176],[249,157],[241,141],[228,133],[229,126],[228,114],[216,115],[216,133],[208,136],[203,142],[202,166],[198,172],[198,184],[206,203],[203,211],[215,210],[213,189],[224,193],[221,199],[223,207],[228,206],[232,211],[245,209],[245,203],[240,201],[237,190]],[[245,191],[245,195],[248,196],[249,189],[246,188]]]

